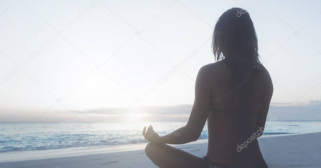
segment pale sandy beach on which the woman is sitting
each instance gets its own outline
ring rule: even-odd
[[[276,137],[261,137],[259,143],[271,168],[321,167],[321,132]],[[175,145],[193,155],[206,155],[207,140]],[[0,155],[1,168],[154,168],[145,155],[146,144],[27,151]],[[37,159],[35,159],[37,158]],[[20,161],[17,161],[20,160]]]

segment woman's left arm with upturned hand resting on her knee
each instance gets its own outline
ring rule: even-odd
[[[210,65],[205,65],[198,71],[195,82],[195,100],[186,126],[162,137],[159,137],[151,126],[148,128],[147,133],[145,133],[145,127],[143,130],[145,139],[160,144],[185,144],[196,141],[201,135],[211,110],[213,79],[211,74]]]

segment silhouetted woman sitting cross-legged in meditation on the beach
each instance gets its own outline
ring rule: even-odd
[[[186,126],[160,137],[150,125],[146,155],[169,167],[267,167],[256,138],[263,133],[273,85],[259,61],[257,37],[247,11],[232,8],[218,19],[213,33],[216,63],[196,77],[195,101]],[[208,126],[208,150],[199,158],[166,144],[185,144]],[[175,136],[176,135],[176,136]]]

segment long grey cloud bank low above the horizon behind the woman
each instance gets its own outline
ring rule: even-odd
[[[136,108],[108,108],[88,111],[75,111],[76,113],[91,113],[105,115],[130,115],[133,113],[156,115],[158,120],[163,121],[187,121],[193,105],[173,105],[173,106],[141,106]],[[321,101],[309,101],[308,103],[271,103],[267,120],[276,117],[282,121],[320,121]],[[149,121],[153,117],[144,117]]]

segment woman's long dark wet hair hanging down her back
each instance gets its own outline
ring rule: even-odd
[[[238,88],[230,102],[235,102],[232,104],[239,110],[247,110],[255,100],[262,64],[256,31],[246,10],[231,8],[220,16],[214,28],[212,48],[215,59],[225,60],[228,65],[230,81],[226,86],[231,90]]]

